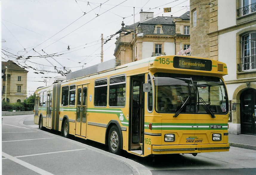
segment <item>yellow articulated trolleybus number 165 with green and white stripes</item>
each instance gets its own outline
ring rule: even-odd
[[[115,154],[229,151],[225,63],[175,55],[111,65],[38,88],[35,124],[104,143]]]

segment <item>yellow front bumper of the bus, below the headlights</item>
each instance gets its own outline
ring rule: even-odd
[[[152,154],[181,154],[229,151],[229,143],[201,145],[152,145]]]

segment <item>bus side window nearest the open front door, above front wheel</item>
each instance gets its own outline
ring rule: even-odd
[[[124,107],[125,106],[125,76],[116,76],[110,78],[109,84],[109,106]]]

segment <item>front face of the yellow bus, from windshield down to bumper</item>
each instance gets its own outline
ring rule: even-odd
[[[228,98],[221,77],[155,73],[152,79],[155,112],[145,117],[147,154],[229,151]]]

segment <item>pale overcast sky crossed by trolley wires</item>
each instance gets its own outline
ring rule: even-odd
[[[122,21],[125,25],[133,24],[134,18],[138,22],[141,9],[154,12],[154,17],[178,17],[189,11],[189,0],[2,0],[0,3],[1,60],[27,67],[27,96],[61,76],[54,66],[73,72],[100,63],[101,34],[105,42],[121,29]],[[171,12],[164,13],[164,7],[171,7]],[[103,45],[103,61],[115,59],[116,37]],[[43,58],[40,54],[54,56]]]

